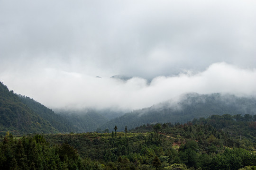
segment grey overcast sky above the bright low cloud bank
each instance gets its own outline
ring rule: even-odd
[[[99,71],[153,78],[222,61],[254,68],[255,5],[253,0],[1,1],[0,56],[8,67],[15,60],[34,65],[36,58],[91,76]]]

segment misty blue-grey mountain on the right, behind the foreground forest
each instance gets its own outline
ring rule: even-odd
[[[210,115],[223,114],[256,114],[256,99],[252,97],[237,97],[231,94],[198,94],[188,93],[178,101],[167,101],[153,105],[150,108],[134,110],[123,116],[112,119],[101,126],[113,131],[115,126],[118,131],[146,124],[155,123],[185,123],[194,118],[209,117]]]

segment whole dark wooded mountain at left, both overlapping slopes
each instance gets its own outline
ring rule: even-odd
[[[0,134],[64,133],[77,129],[35,100],[9,91],[0,82]]]

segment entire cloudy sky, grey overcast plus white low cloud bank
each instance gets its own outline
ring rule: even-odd
[[[255,0],[0,0],[0,81],[50,108],[139,109],[188,92],[256,96],[255,8]],[[137,77],[109,78],[119,74]]]

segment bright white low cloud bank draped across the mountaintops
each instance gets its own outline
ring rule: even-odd
[[[100,75],[98,75],[100,76]],[[214,63],[202,72],[158,76],[151,82],[141,77],[127,81],[96,78],[45,68],[35,76],[2,74],[1,81],[16,93],[27,95],[53,109],[135,110],[175,99],[184,93],[232,93],[256,96],[256,69]]]

